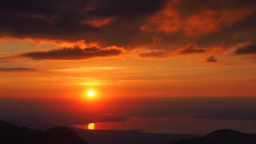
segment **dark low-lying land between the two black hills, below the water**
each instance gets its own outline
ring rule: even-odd
[[[195,134],[154,134],[140,130],[81,130],[74,129],[80,138],[90,144],[166,144]]]

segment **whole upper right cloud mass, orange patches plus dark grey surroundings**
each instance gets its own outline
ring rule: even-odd
[[[171,51],[196,43],[202,47],[222,46],[223,50],[229,50],[246,39],[254,39],[256,2],[168,2],[140,27],[142,33],[161,38],[158,47]]]

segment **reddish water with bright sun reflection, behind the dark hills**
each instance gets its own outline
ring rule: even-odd
[[[86,130],[140,130],[161,134],[208,134],[214,130],[233,129],[256,132],[256,121],[234,119],[206,119],[191,116],[130,117],[126,122],[91,122],[73,125]]]

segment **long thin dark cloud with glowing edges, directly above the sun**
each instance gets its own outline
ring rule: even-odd
[[[33,59],[56,59],[56,60],[78,60],[78,59],[89,59],[97,57],[109,57],[122,54],[122,50],[116,48],[62,48],[57,50],[49,51],[34,51],[22,54],[22,57],[33,58]]]

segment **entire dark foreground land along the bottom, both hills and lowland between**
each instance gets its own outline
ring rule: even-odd
[[[76,130],[66,127],[54,127],[41,131],[26,127],[14,126],[0,121],[1,144],[137,144],[167,143],[170,144],[255,144],[256,134],[246,134],[236,130],[218,130],[205,136],[192,134],[150,134],[137,130]],[[186,139],[182,139],[186,138]],[[175,141],[177,139],[181,139]]]

